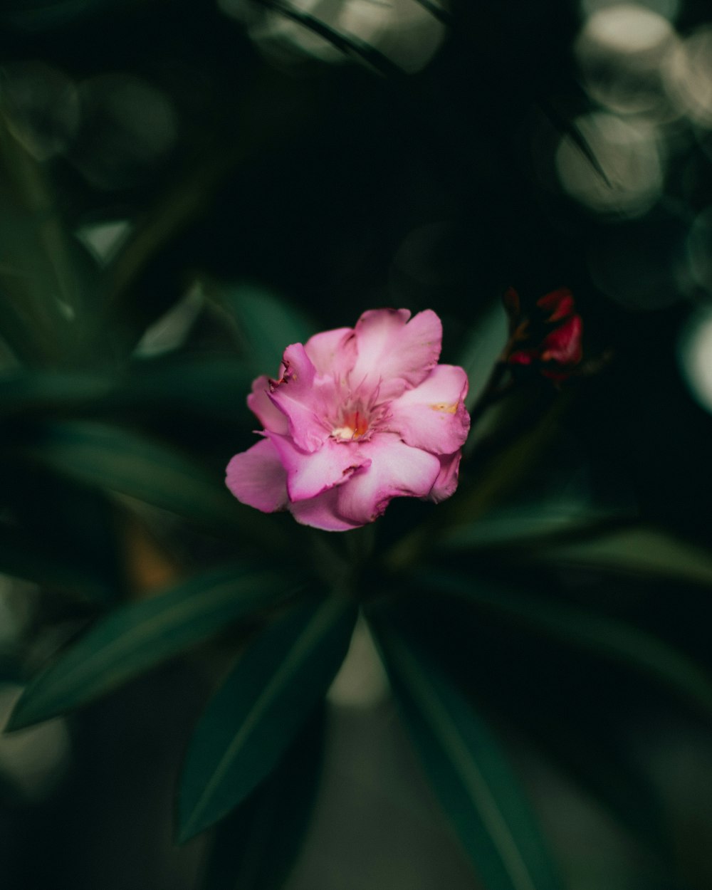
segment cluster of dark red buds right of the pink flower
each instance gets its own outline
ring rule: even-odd
[[[505,294],[510,341],[504,360],[510,365],[535,365],[541,374],[561,381],[570,376],[582,357],[583,322],[575,312],[568,287],[561,287],[537,301],[539,319],[522,315],[519,295],[510,287]]]

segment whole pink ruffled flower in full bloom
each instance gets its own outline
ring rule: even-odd
[[[467,376],[437,363],[434,312],[409,319],[407,309],[364,312],[355,328],[287,346],[279,380],[255,380],[247,405],[263,438],[227,468],[239,501],[345,531],[391,498],[449,498],[470,425]]]

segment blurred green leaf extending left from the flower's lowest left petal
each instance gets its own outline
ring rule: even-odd
[[[77,422],[46,425],[28,456],[73,479],[163,507],[216,530],[250,538],[278,533],[267,517],[241,506],[196,461],[167,445],[117,426]]]

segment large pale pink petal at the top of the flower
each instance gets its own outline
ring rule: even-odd
[[[378,389],[379,401],[385,401],[425,380],[440,356],[441,320],[431,309],[409,318],[407,309],[361,315],[354,328],[359,353],[351,373],[354,389]]]

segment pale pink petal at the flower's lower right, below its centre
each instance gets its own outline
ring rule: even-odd
[[[371,464],[336,489],[338,513],[355,525],[373,522],[391,498],[427,498],[441,471],[435,455],[411,448],[395,433],[376,433],[361,449]]]

